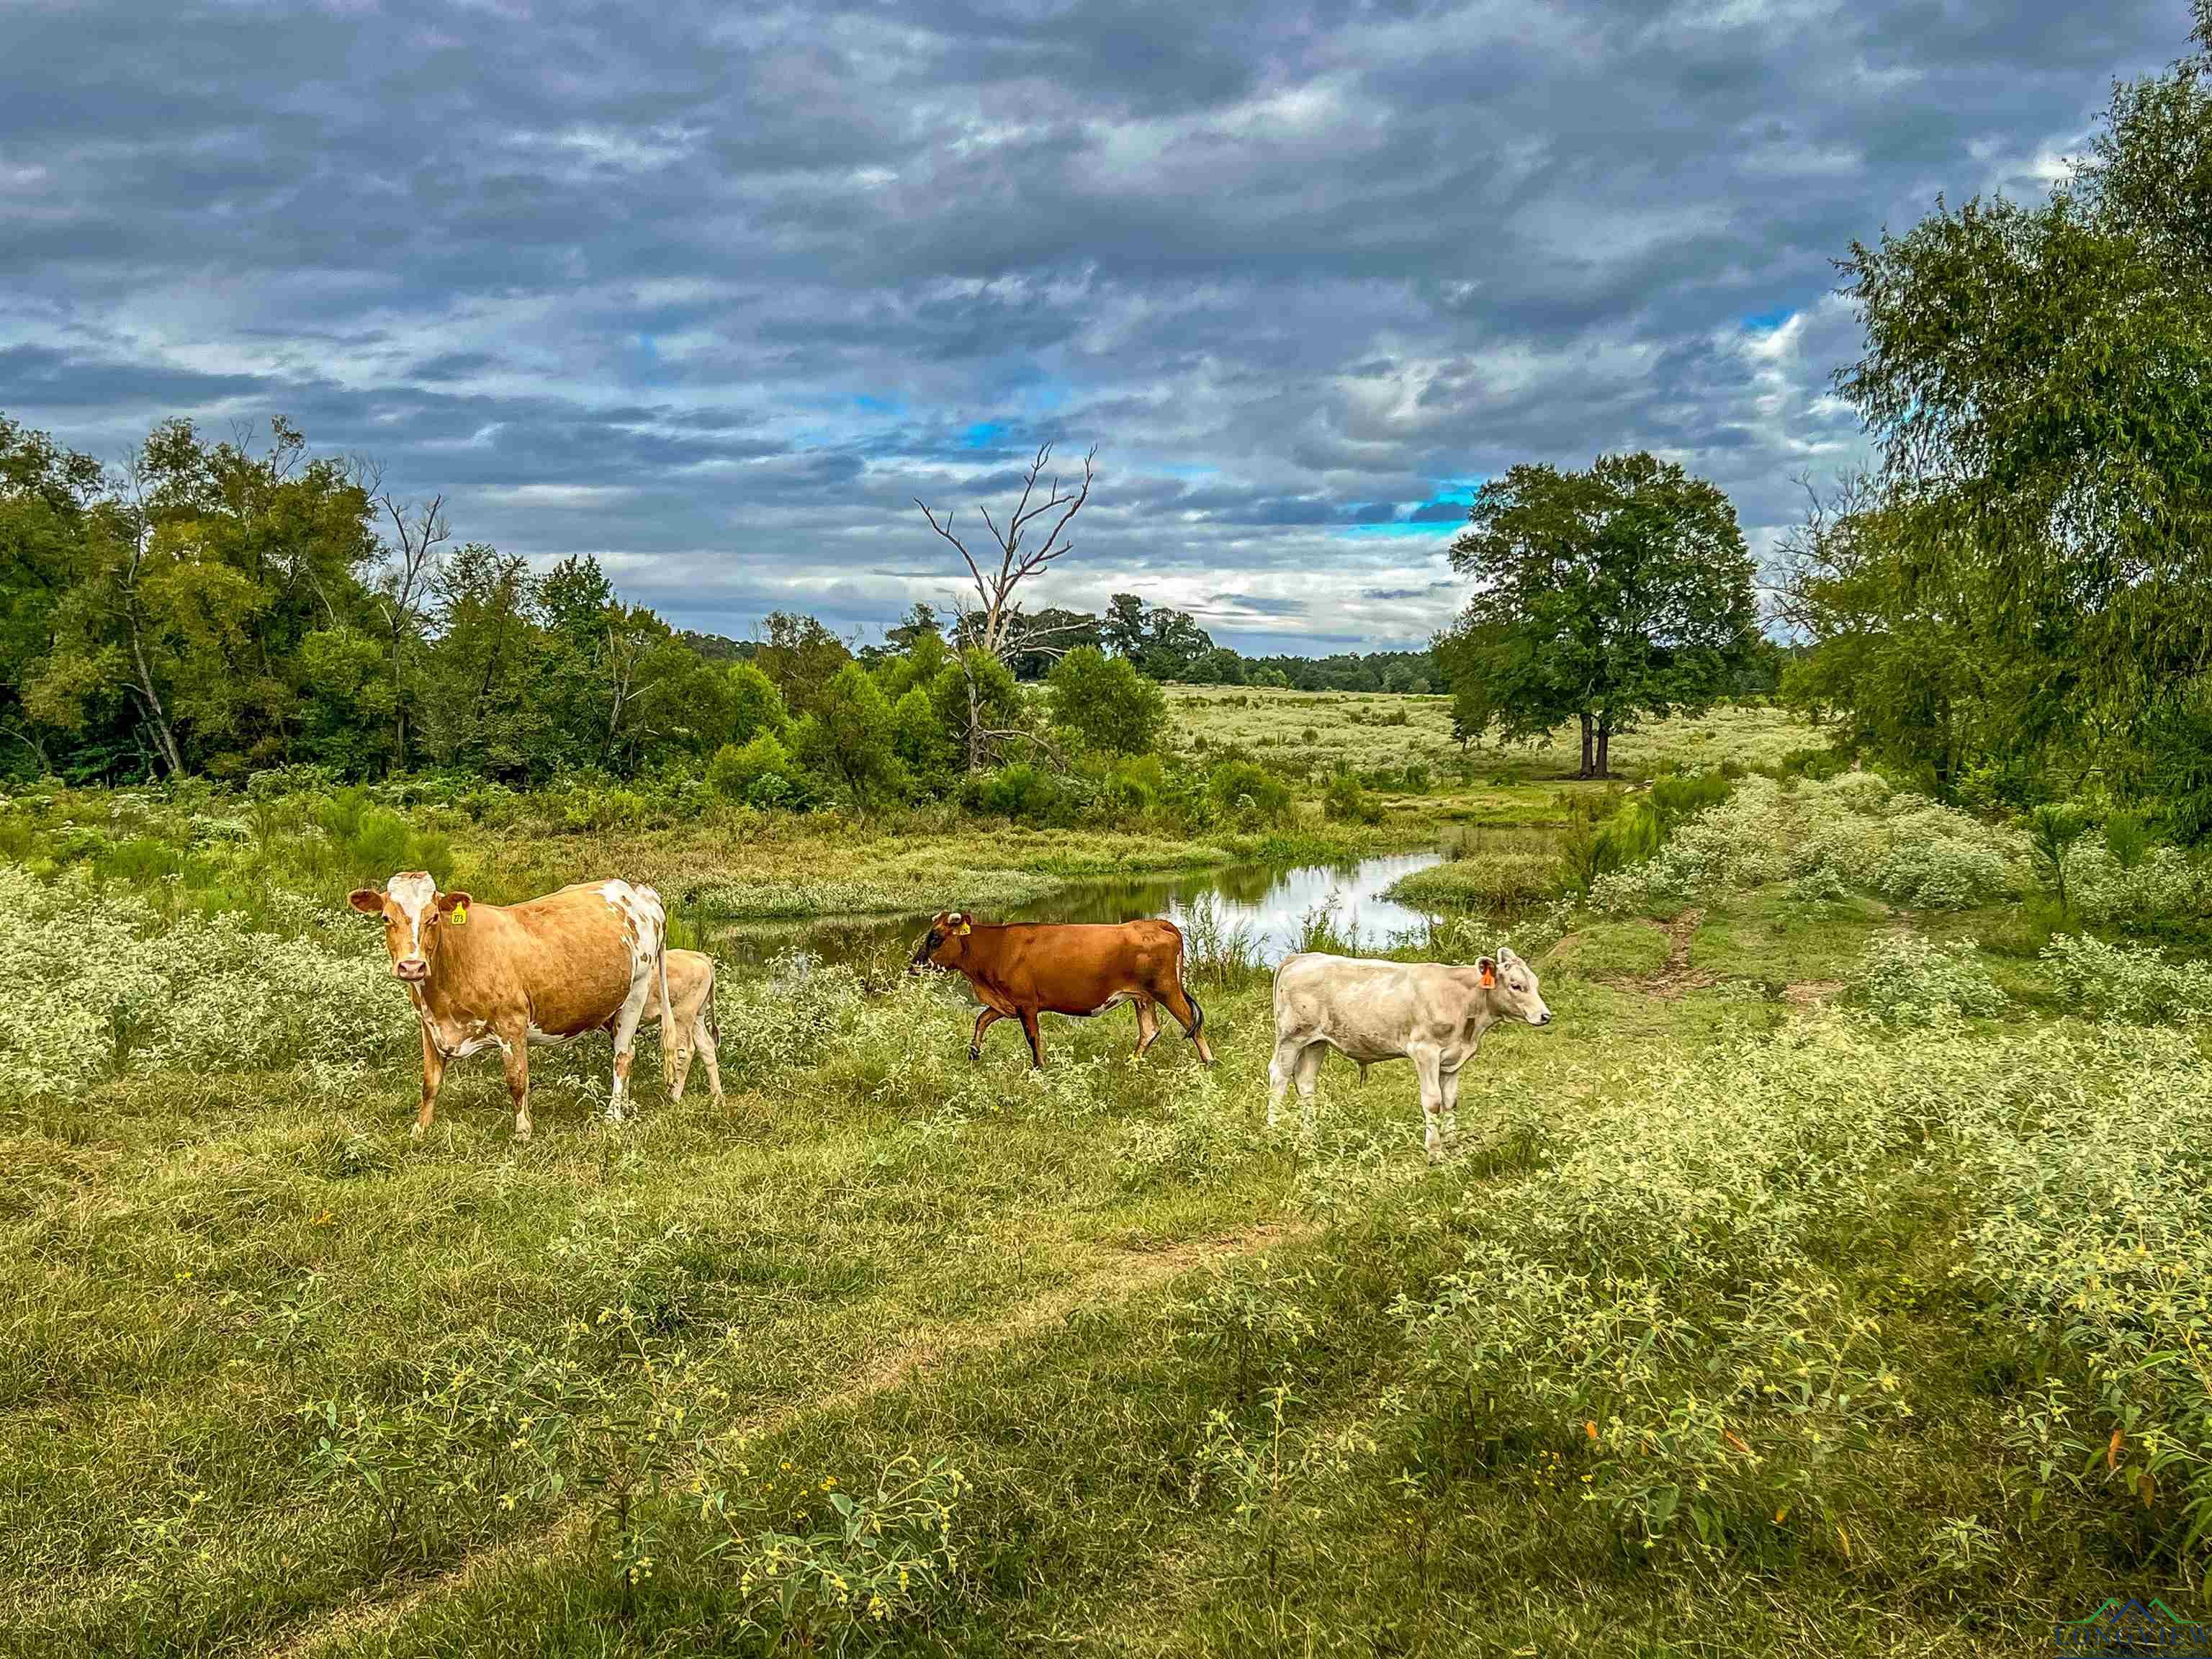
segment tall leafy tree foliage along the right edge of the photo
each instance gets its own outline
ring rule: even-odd
[[[1838,374],[1880,445],[1856,557],[1798,584],[1801,688],[1940,785],[2068,757],[2177,768],[2212,668],[2212,9],[2197,53],[2112,91],[2046,201],[1938,204],[1854,246],[1867,347]],[[1918,675],[1860,666],[1922,661]],[[2066,770],[2066,768],[2059,768]],[[2163,781],[2161,781],[2163,779]]]

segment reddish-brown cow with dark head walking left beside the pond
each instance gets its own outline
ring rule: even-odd
[[[1137,1053],[1159,1035],[1155,1004],[1199,1044],[1199,1060],[1214,1064],[1206,1046],[1206,1009],[1183,989],[1183,933],[1175,922],[1015,922],[978,927],[967,911],[938,911],[914,951],[909,973],[925,967],[967,975],[982,1000],[969,1060],[982,1060],[982,1033],[1000,1020],[1020,1020],[1029,1037],[1029,1064],[1044,1064],[1040,1013],[1073,1013],[1088,1020],[1117,1002],[1137,1004]]]

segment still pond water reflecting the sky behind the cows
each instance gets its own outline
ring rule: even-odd
[[[1261,960],[1287,956],[1305,918],[1325,905],[1336,909],[1336,931],[1369,945],[1387,945],[1429,920],[1425,911],[1383,898],[1400,876],[1442,863],[1442,854],[1407,852],[1363,858],[1356,865],[1301,869],[1228,867],[1177,876],[1130,876],[1064,887],[1033,905],[993,907],[989,894],[969,896],[984,922],[1130,922],[1166,916],[1190,927],[1190,907],[1212,900],[1223,933],[1243,929]],[[734,922],[717,940],[726,962],[765,962],[803,949],[830,962],[900,960],[914,953],[929,925],[927,916],[845,916],[792,922]]]

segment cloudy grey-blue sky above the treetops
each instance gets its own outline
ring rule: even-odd
[[[874,635],[911,507],[1099,445],[1040,602],[1455,608],[1469,487],[1650,447],[1754,546],[1856,427],[1832,259],[2039,192],[2185,0],[0,7],[0,411],[290,414],[675,622]]]

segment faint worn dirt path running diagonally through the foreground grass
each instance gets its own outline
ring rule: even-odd
[[[1006,1343],[1018,1343],[1020,1338],[1066,1318],[1077,1307],[1128,1301],[1130,1296],[1155,1290],[1192,1267],[1203,1267],[1210,1261],[1252,1256],[1270,1245],[1307,1232],[1312,1232],[1310,1223],[1292,1221],[1239,1228],[1237,1232],[1223,1232],[1210,1239],[1188,1239],[1183,1243],[1164,1245],[1161,1250],[1117,1250],[1108,1245],[1102,1259],[1088,1270],[1079,1272],[1068,1283],[1055,1285],[1053,1290],[1029,1298],[1020,1307],[1009,1310],[1006,1316],[995,1323],[953,1327],[933,1336],[911,1336],[898,1343],[889,1354],[883,1354],[863,1367],[860,1374],[845,1387],[814,1400],[765,1411],[757,1418],[732,1425],[732,1429],[741,1436],[779,1433],[803,1418],[818,1416],[823,1411],[843,1411],[878,1394],[887,1394],[902,1387],[914,1376],[958,1360],[967,1354],[982,1354],[993,1347],[1004,1347]],[[398,1595],[378,1597],[376,1586],[356,1590],[354,1597],[341,1601],[321,1619],[290,1630],[281,1639],[261,1648],[259,1659],[312,1659],[312,1655],[325,1652],[334,1644],[349,1637],[389,1630],[425,1601],[465,1590],[478,1579],[498,1575],[500,1571],[518,1566],[535,1555],[551,1555],[560,1551],[582,1537],[591,1526],[591,1520],[593,1515],[588,1506],[573,1509],[540,1533],[511,1537],[480,1548],[442,1573],[407,1586]]]

